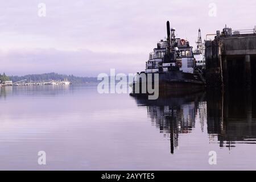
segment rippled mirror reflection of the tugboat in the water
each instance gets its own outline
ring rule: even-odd
[[[171,154],[178,147],[179,134],[191,133],[195,128],[196,114],[204,113],[205,93],[183,94],[179,92],[160,92],[157,100],[148,100],[147,96],[134,96],[138,106],[146,106],[148,117],[160,129],[170,135]],[[201,111],[199,111],[201,103]],[[206,116],[206,114],[204,114]],[[201,118],[205,121],[204,118]]]

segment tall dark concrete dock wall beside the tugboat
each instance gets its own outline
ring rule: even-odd
[[[255,58],[256,34],[222,35],[205,41],[207,85],[255,85]]]

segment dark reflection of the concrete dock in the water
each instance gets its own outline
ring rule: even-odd
[[[256,143],[256,107],[252,90],[208,93],[207,125],[210,137],[217,135],[220,147]]]

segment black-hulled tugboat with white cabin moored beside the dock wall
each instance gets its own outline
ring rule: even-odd
[[[170,30],[170,22],[167,21],[167,40],[160,40],[157,43],[154,52],[149,55],[145,71],[137,73],[133,83],[130,84],[133,93],[137,93],[135,88],[138,87],[141,93],[142,85],[147,85],[148,77],[154,77],[155,74],[159,76],[159,90],[185,93],[203,90],[205,88],[203,72],[196,66],[192,49],[187,40],[175,37],[175,28]],[[146,75],[146,80],[142,79],[143,75]]]

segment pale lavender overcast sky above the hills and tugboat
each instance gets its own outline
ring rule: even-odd
[[[97,76],[143,71],[166,21],[195,46],[205,34],[254,28],[256,1],[0,0],[0,72]],[[46,5],[46,16],[39,16]]]

